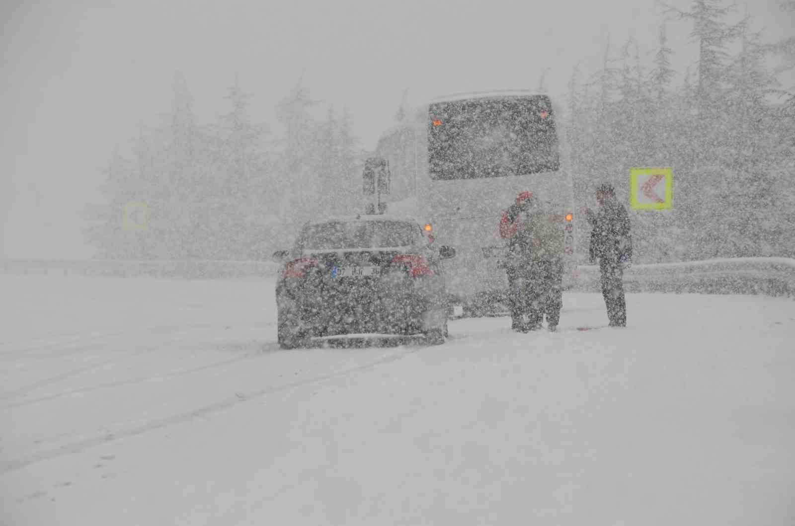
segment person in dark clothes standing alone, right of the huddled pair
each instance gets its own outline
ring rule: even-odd
[[[596,189],[599,212],[588,214],[591,222],[591,263],[599,260],[602,296],[607,306],[610,327],[626,327],[626,300],[623,273],[632,259],[630,218],[626,208],[615,199],[611,184]]]

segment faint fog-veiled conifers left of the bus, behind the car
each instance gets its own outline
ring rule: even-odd
[[[273,137],[251,122],[237,83],[226,99],[228,113],[200,125],[176,75],[169,122],[142,129],[130,156],[114,153],[105,201],[86,211],[98,257],[261,259],[310,214],[359,207],[362,156],[347,111],[312,117],[317,102],[299,84],[277,108],[284,133]]]

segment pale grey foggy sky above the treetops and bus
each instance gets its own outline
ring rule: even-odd
[[[767,40],[793,33],[795,14],[779,3],[747,3]],[[91,255],[80,211],[99,199],[114,148],[161,124],[176,71],[200,123],[227,112],[238,75],[254,121],[274,129],[273,106],[302,79],[319,116],[347,108],[371,149],[405,89],[412,102],[535,89],[548,69],[549,91],[562,95],[575,64],[598,68],[608,35],[614,49],[634,36],[651,52],[660,21],[653,0],[4,2],[0,257]],[[684,69],[695,58],[689,25],[668,28]]]

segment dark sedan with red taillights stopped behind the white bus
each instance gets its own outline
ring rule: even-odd
[[[406,219],[367,216],[304,225],[276,285],[278,340],[284,349],[339,338],[447,336],[440,261],[455,249],[432,245]]]

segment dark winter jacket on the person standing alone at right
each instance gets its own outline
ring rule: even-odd
[[[591,262],[603,264],[628,263],[632,259],[630,217],[626,208],[615,200],[607,201],[592,220]]]

